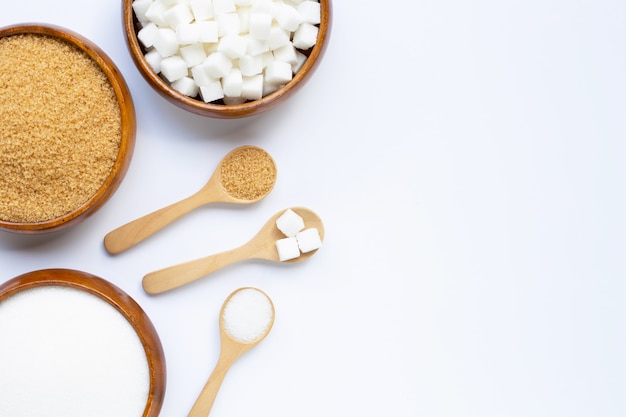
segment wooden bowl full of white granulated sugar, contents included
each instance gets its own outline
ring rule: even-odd
[[[40,270],[0,285],[2,415],[157,417],[159,337],[141,307],[91,274]]]

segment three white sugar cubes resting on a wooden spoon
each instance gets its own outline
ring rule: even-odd
[[[305,229],[304,219],[291,209],[285,210],[276,219],[276,227],[286,237],[276,241],[276,250],[280,261],[288,261],[319,249],[322,246],[319,230],[315,227]]]

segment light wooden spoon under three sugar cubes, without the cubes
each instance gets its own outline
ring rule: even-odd
[[[320,238],[324,240],[324,224],[317,214],[304,207],[292,207],[291,210],[303,218],[305,228],[317,228]],[[284,212],[285,210],[274,214],[251,240],[238,248],[150,272],[143,278],[144,290],[149,294],[159,294],[244,259],[267,259],[280,262],[276,241],[285,236],[276,227],[276,219]],[[308,259],[315,252],[317,250],[302,253],[298,258],[284,262],[300,262]]]

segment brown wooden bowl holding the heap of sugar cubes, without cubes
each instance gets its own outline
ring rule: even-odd
[[[141,75],[150,86],[166,100],[192,113],[213,118],[241,118],[263,113],[284,102],[309,80],[326,50],[331,29],[331,0],[320,0],[321,22],[317,43],[308,51],[301,51],[308,56],[302,68],[293,79],[279,90],[254,101],[243,104],[225,105],[217,102],[205,103],[199,97],[191,98],[173,89],[160,75],[155,73],[144,58],[146,50],[137,39],[141,28],[132,8],[133,0],[123,0],[123,18],[126,41],[131,57]]]

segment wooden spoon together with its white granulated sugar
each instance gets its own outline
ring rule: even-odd
[[[188,417],[207,417],[231,365],[259,344],[274,324],[274,304],[261,290],[240,288],[220,310],[220,356]]]

